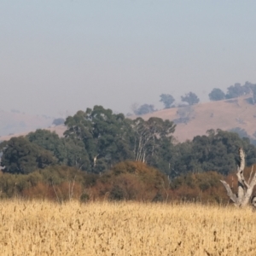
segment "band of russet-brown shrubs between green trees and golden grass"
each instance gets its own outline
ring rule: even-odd
[[[75,167],[47,166],[28,174],[0,173],[0,198],[57,201],[228,201],[218,172],[189,173],[173,180],[142,162],[124,161],[102,175]],[[231,180],[231,177],[227,177]]]

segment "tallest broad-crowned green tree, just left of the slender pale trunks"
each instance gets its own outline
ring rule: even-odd
[[[87,171],[103,172],[120,160],[132,158],[131,119],[122,113],[95,106],[66,120],[65,137],[82,143],[88,154]]]

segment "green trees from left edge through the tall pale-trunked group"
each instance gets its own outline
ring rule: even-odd
[[[100,173],[124,160],[161,166],[163,148],[171,148],[175,125],[169,120],[134,120],[95,106],[66,119],[65,137],[38,130],[0,144],[3,172],[29,173],[45,166],[75,166]]]

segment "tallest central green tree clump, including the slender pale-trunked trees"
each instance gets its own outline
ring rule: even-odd
[[[86,150],[90,172],[104,172],[123,160],[160,161],[162,143],[172,143],[175,125],[169,120],[142,118],[125,119],[110,109],[96,106],[79,111],[66,121],[65,137],[82,143]]]

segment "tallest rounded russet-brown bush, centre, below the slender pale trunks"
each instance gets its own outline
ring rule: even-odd
[[[120,162],[97,180],[94,188],[97,198],[108,195],[110,200],[153,201],[155,195],[165,195],[168,189],[166,175],[142,162]]]

